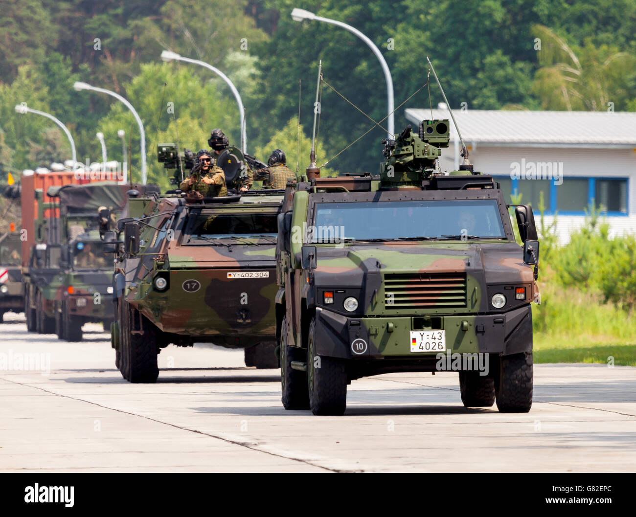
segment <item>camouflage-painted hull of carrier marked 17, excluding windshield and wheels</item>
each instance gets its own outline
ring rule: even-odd
[[[139,254],[123,255],[116,265],[121,279],[127,272],[122,291],[125,300],[163,331],[169,342],[212,341],[245,347],[275,336],[275,234],[228,236],[192,244],[186,230],[189,217],[201,212],[266,212],[275,218],[282,195],[257,193],[227,201],[154,196],[146,203],[143,216],[151,217],[147,222],[155,228],[141,226]],[[258,277],[230,278],[245,272]],[[163,291],[153,283],[158,275],[168,282]]]

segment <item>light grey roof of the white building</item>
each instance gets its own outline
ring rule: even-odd
[[[432,113],[433,118],[450,118],[448,109],[434,109]],[[425,108],[406,109],[404,114],[413,124],[431,118],[431,110]],[[636,113],[453,109],[453,114],[466,145],[483,142],[494,146],[636,146]],[[452,121],[450,127],[453,139]]]

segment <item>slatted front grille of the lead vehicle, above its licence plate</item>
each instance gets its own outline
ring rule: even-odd
[[[466,273],[387,273],[387,309],[466,307]]]

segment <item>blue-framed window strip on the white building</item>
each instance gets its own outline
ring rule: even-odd
[[[506,202],[511,202],[508,193],[516,195],[520,191],[520,186],[532,185],[532,188],[525,189],[522,203],[530,203],[535,210],[537,210],[539,191],[543,190],[546,203],[545,214],[548,216],[554,215],[555,212],[563,216],[584,216],[584,209],[592,202],[597,207],[604,206],[605,210],[601,212],[604,216],[626,217],[630,213],[630,179],[628,177],[569,177],[563,179],[560,185],[552,180],[511,179],[509,176],[494,176],[494,179],[501,183]],[[520,184],[522,181],[527,183]],[[564,185],[565,188],[570,187],[567,191],[568,195],[571,195],[569,198],[564,196]],[[545,190],[543,187],[546,187]],[[560,200],[559,194],[561,194]]]

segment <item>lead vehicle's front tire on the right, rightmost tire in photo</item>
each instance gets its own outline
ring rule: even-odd
[[[501,413],[527,413],[532,407],[532,352],[503,355],[495,377],[495,397]]]

